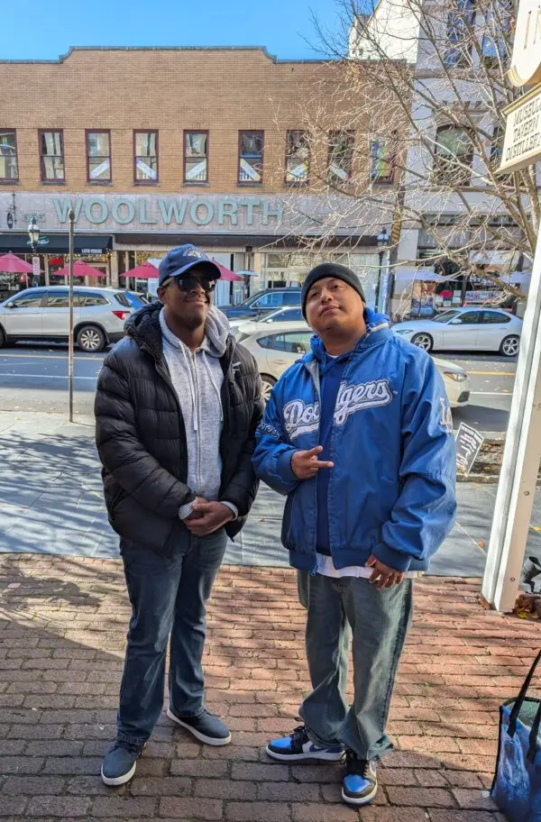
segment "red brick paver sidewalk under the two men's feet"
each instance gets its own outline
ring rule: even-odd
[[[377,802],[339,801],[340,768],[272,763],[270,736],[295,725],[307,689],[304,614],[285,569],[225,567],[206,655],[208,704],[234,744],[196,744],[162,717],[131,786],[107,790],[129,615],[120,562],[0,558],[0,817],[227,822],[496,822],[487,799],[500,700],[539,644],[535,623],[484,611],[479,580],[417,584],[415,625]]]

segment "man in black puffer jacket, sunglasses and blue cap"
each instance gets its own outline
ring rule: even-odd
[[[231,741],[204,708],[206,600],[257,491],[262,399],[252,355],[211,306],[219,276],[194,246],[170,251],[161,303],[130,317],[98,379],[96,444],[133,609],[107,785],[133,777],[160,717],[169,637],[168,717],[206,744]]]

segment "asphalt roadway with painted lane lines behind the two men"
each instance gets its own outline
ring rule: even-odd
[[[76,414],[91,415],[96,379],[106,352],[75,352],[74,405]],[[471,397],[455,408],[454,425],[461,422],[482,432],[505,432],[515,371],[515,359],[499,354],[445,352],[445,360],[467,371]],[[68,349],[65,345],[20,343],[0,351],[0,410],[62,413],[68,410]]]

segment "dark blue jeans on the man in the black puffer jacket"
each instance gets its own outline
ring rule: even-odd
[[[187,553],[171,557],[120,543],[132,618],[116,717],[119,741],[142,745],[160,717],[169,639],[170,708],[179,717],[203,711],[206,601],[227,537],[223,529],[202,538],[187,529],[185,538]]]

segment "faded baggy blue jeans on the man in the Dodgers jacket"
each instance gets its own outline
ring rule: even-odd
[[[380,759],[390,697],[412,615],[412,580],[378,590],[369,580],[298,571],[307,607],[306,647],[314,689],[299,715],[315,744],[343,743],[362,759]],[[353,638],[353,705],[345,699]]]

